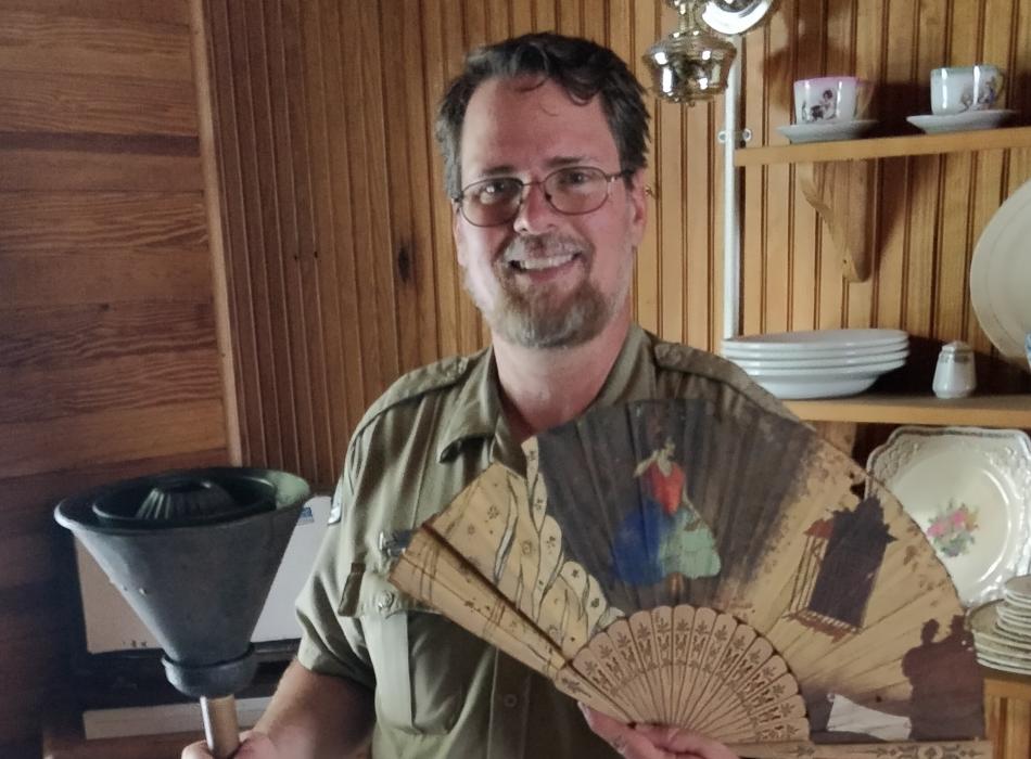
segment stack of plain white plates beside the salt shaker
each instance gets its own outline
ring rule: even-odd
[[[836,398],[867,389],[906,362],[902,330],[811,330],[730,337],[723,355],[778,398]]]

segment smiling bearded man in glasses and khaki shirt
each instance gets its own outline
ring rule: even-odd
[[[404,538],[492,461],[590,406],[776,401],[722,360],[631,324],[646,220],[647,113],[611,51],[531,35],[474,52],[441,105],[466,286],[492,348],[402,377],[358,425],[297,661],[238,756],[733,756],[684,731],[577,705],[386,581]],[[205,756],[191,747],[184,757]]]

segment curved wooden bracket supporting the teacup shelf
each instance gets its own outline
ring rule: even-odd
[[[827,224],[848,282],[865,282],[874,265],[876,160],[799,164],[805,200]]]

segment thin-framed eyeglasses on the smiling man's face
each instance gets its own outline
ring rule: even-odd
[[[545,200],[555,210],[578,216],[598,210],[609,200],[612,180],[632,173],[625,169],[606,173],[593,166],[567,166],[534,182],[516,177],[492,177],[473,182],[454,200],[466,221],[473,227],[499,227],[519,216],[526,198],[526,188],[539,184]]]

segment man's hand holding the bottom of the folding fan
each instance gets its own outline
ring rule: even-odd
[[[628,759],[738,759],[722,743],[677,728],[623,724],[580,705],[587,726]]]

